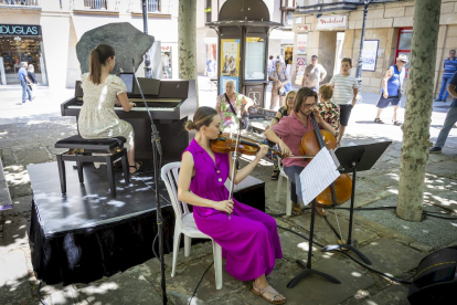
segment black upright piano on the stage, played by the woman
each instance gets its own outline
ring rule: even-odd
[[[138,78],[145,99],[152,114],[162,145],[162,161],[181,160],[182,151],[189,145],[189,133],[184,123],[196,111],[194,80],[153,80]],[[150,164],[152,160],[151,125],[144,106],[139,88],[134,82],[127,85],[127,96],[136,103],[130,112],[115,107],[119,118],[131,124],[135,130],[135,155],[139,160]],[[75,116],[76,120],[83,107],[83,90],[76,82],[75,96],[61,105],[62,116]]]

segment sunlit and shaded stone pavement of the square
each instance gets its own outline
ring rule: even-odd
[[[201,105],[212,105],[215,92],[200,77]],[[13,209],[0,212],[0,304],[40,304],[35,278],[30,261],[28,231],[32,190],[26,165],[55,160],[56,139],[76,133],[74,118],[60,116],[60,104],[72,96],[73,91],[51,92],[43,88],[39,96],[25,105],[15,105],[17,91],[0,92],[0,156],[4,177],[11,193]],[[392,124],[372,123],[375,115],[376,95],[362,95],[352,113],[343,145],[392,140],[375,167],[360,172],[357,182],[357,207],[395,206],[401,161],[402,129]],[[435,103],[436,104],[436,103]],[[447,103],[449,104],[449,103]],[[448,106],[448,105],[447,105]],[[431,134],[436,139],[443,125],[446,104],[434,105]],[[383,113],[386,119],[391,109]],[[403,114],[403,113],[402,113]],[[457,213],[457,129],[453,129],[440,155],[431,155],[424,196],[425,209]],[[248,159],[244,159],[245,164]],[[269,179],[272,165],[263,161],[253,176],[266,182],[266,209],[268,213],[285,212],[286,188],[283,183],[279,202],[275,201],[276,181]],[[1,197],[0,197],[1,198]],[[342,207],[347,207],[348,203]],[[328,221],[337,225],[334,214],[346,235],[348,211],[329,210]],[[382,213],[382,214],[381,214]],[[276,217],[278,225],[309,234],[310,213],[299,217]],[[360,249],[372,262],[372,267],[410,280],[419,260],[436,249],[456,244],[457,220],[427,217],[421,223],[410,223],[395,217],[394,210],[357,212],[354,238]],[[414,232],[413,232],[414,231]],[[295,288],[286,288],[290,278],[300,271],[295,260],[306,260],[308,242],[284,229],[279,229],[284,259],[277,262],[268,276],[287,298],[287,304],[408,304],[408,286],[395,283],[370,272],[340,253],[322,253],[315,244],[313,267],[338,277],[334,285],[311,276]],[[323,218],[316,220],[316,240],[320,244],[334,244],[337,238]],[[188,304],[196,283],[212,263],[211,244],[192,246],[191,256],[182,250],[176,277],[170,277],[171,255],[166,256],[167,290],[170,304]],[[160,304],[159,263],[156,259],[130,270],[104,277],[89,284],[44,285],[41,293],[47,304]],[[266,304],[249,292],[248,283],[237,282],[224,272],[224,286],[215,290],[214,272],[210,267],[192,299],[192,304]]]

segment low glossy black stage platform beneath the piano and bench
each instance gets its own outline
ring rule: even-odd
[[[130,177],[127,186],[115,171],[116,198],[110,197],[106,166],[84,166],[81,185],[75,162],[65,162],[67,193],[61,193],[56,162],[30,165],[33,190],[30,242],[38,278],[47,284],[88,283],[125,271],[155,256],[157,234],[152,172]],[[164,253],[172,251],[174,212],[159,180]],[[265,211],[265,182],[247,177],[234,197]],[[195,241],[198,242],[198,241]],[[158,252],[158,244],[155,246]]]

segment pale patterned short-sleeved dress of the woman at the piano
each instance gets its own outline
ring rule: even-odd
[[[104,84],[95,85],[88,80],[88,73],[81,76],[84,104],[78,118],[78,132],[83,138],[99,139],[125,137],[127,149],[134,143],[134,128],[115,113],[117,95],[127,91],[123,80],[109,75]]]

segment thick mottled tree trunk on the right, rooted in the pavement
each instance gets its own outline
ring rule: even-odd
[[[425,166],[428,160],[436,46],[440,1],[416,0],[408,91],[403,129],[396,213],[408,221],[421,221]]]

